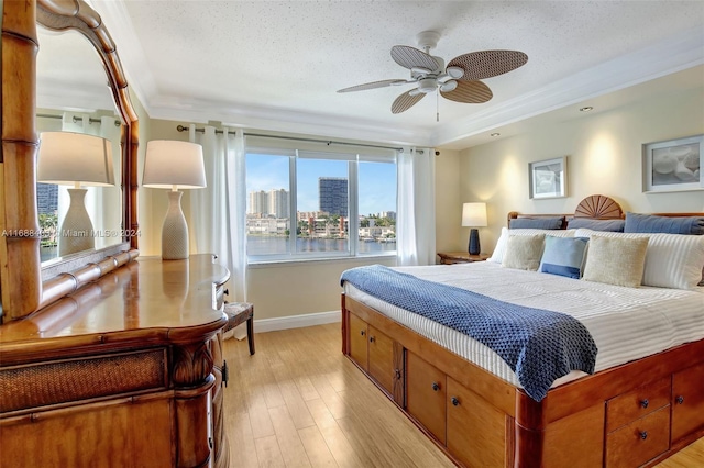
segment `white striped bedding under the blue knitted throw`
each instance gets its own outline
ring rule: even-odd
[[[704,337],[704,288],[701,291],[626,288],[502,268],[488,261],[395,269],[502,301],[574,316],[586,326],[598,347],[596,371]],[[344,292],[520,387],[514,371],[496,353],[468,335],[387,304],[349,282]],[[573,371],[556,380],[553,387],[581,376],[584,372]]]

